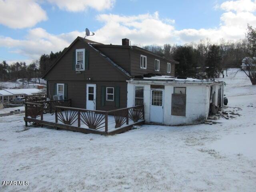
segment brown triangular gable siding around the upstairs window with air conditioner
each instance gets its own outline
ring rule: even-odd
[[[76,49],[85,48],[89,50],[89,70],[76,74],[72,69],[72,53]],[[124,76],[122,72],[112,66],[104,57],[85,42],[78,40],[73,46],[62,56],[58,63],[45,76],[46,80],[87,80],[92,78],[93,81],[125,81],[128,76]]]

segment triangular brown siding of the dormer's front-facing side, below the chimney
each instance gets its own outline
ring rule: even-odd
[[[112,48],[104,46],[95,46],[100,52],[130,73],[130,53],[129,48]]]

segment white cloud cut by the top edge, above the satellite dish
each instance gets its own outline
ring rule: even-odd
[[[48,2],[70,12],[84,11],[88,8],[102,11],[112,8],[115,4],[115,0],[48,0]]]

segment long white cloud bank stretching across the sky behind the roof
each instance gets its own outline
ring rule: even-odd
[[[96,19],[103,25],[94,31],[95,36],[88,39],[105,44],[121,44],[122,38],[129,38],[132,45],[184,44],[205,38],[210,38],[212,42],[217,42],[221,38],[238,40],[245,38],[247,23],[256,26],[256,15],[253,12],[236,12],[234,8],[220,16],[220,24],[215,28],[176,30],[172,18],[161,18],[158,12],[133,16],[99,14]],[[84,35],[85,32],[79,31],[50,34],[43,28],[34,28],[28,31],[23,40],[0,36],[0,46],[5,46],[28,59],[38,59],[41,54],[63,50],[77,36]]]

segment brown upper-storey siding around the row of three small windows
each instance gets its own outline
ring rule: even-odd
[[[146,69],[140,68],[140,55],[147,56]],[[130,50],[130,57],[131,57],[131,75],[132,76],[148,74],[148,73],[159,73],[163,75],[175,76],[175,64],[173,62],[170,62],[161,57],[156,57],[154,55],[147,54],[145,52],[141,52],[138,50]],[[155,71],[155,59],[160,60],[159,71]],[[167,73],[167,62],[171,63],[171,73]]]

